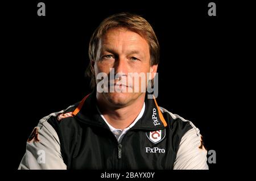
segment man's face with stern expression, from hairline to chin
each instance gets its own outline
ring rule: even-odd
[[[110,69],[114,69],[114,75],[118,74],[118,77],[111,78]],[[147,77],[147,73],[154,73],[156,69],[157,65],[150,66],[150,49],[142,36],[125,28],[113,28],[100,40],[94,71],[96,77],[98,73],[108,74],[109,90],[114,91],[97,94],[113,106],[132,104],[144,96],[147,81],[143,83],[140,77],[135,81],[131,73]],[[100,81],[96,79],[96,83]]]

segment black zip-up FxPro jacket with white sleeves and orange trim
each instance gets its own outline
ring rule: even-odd
[[[96,94],[39,121],[19,169],[208,169],[199,129],[145,99],[141,119],[118,143]]]

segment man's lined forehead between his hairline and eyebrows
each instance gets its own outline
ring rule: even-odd
[[[126,28],[112,28],[101,39],[102,48],[148,50],[147,41],[134,31]]]

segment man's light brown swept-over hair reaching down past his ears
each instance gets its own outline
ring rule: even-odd
[[[129,31],[133,31],[141,35],[147,41],[150,47],[150,65],[152,66],[159,64],[159,43],[150,23],[139,15],[126,12],[114,14],[104,19],[90,38],[88,52],[90,63],[86,69],[86,75],[91,78],[90,86],[92,89],[96,86],[92,63],[96,60],[100,39],[106,34],[106,32],[108,32],[108,30],[118,27],[126,28]]]

